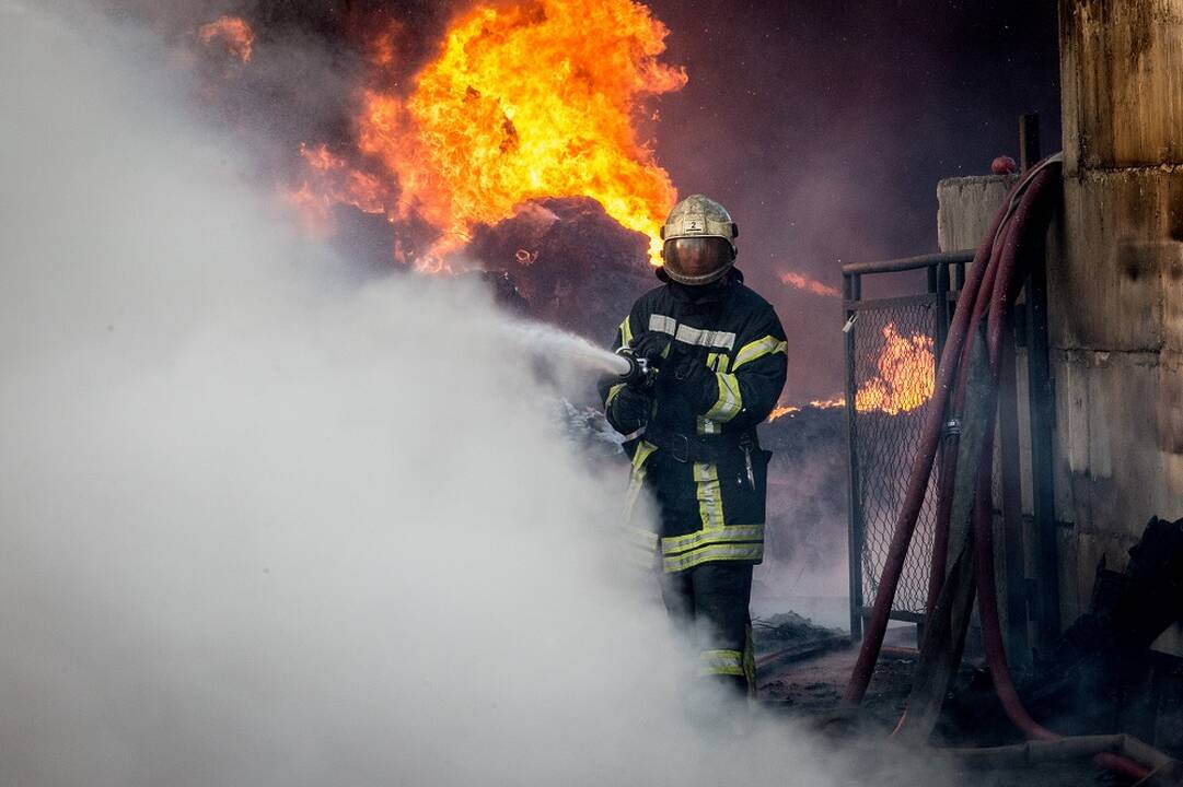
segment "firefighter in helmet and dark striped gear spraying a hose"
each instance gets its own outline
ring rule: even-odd
[[[645,358],[645,382],[601,384],[612,425],[626,436],[632,477],[626,516],[647,489],[658,532],[632,535],[659,566],[671,618],[702,637],[699,671],[749,696],[752,567],[764,554],[768,460],[756,427],[784,386],[784,329],[735,267],[738,228],[694,194],[670,213],[664,282],[633,305],[614,347]]]

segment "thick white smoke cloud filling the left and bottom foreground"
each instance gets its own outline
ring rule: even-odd
[[[696,721],[485,295],[342,275],[155,41],[0,0],[0,782],[834,783]]]

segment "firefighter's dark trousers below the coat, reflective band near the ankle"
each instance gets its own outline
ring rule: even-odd
[[[750,564],[704,562],[661,577],[670,619],[699,643],[699,675],[755,696]]]

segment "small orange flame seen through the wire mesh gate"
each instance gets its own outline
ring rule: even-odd
[[[885,325],[883,334],[884,347],[875,362],[879,373],[859,388],[854,406],[860,412],[878,410],[888,415],[914,410],[929,401],[936,388],[932,337],[904,337],[894,323]]]

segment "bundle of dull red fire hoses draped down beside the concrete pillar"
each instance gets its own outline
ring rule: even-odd
[[[995,692],[1011,723],[1028,740],[1041,742],[1066,740],[1032,718],[1023,707],[1010,676],[998,620],[991,515],[994,421],[997,412],[996,397],[1003,358],[1002,347],[1010,314],[1008,306],[1014,303],[1027,278],[1027,268],[1032,258],[1027,252],[1029,243],[1042,238],[1052,219],[1060,195],[1060,156],[1040,162],[1014,186],[1004,207],[995,216],[989,233],[974,255],[940,355],[936,385],[920,432],[920,443],[913,460],[904,501],[896,520],[866,633],[846,688],[843,701],[847,704],[859,704],[871,682],[883,648],[904,560],[907,557],[917,518],[927,494],[932,467],[938,449],[942,448],[942,437],[944,436],[944,448],[940,450],[942,467],[937,484],[937,520],[926,609],[930,612],[937,609],[938,600],[946,604],[945,609],[948,609],[948,604],[952,603],[942,594],[942,591],[945,590],[946,567],[950,558],[950,526],[953,522],[961,526],[968,520],[970,533],[965,534],[967,538],[962,539],[962,542],[968,545],[971,536],[972,551],[971,554],[968,554],[970,558],[968,564],[958,562],[957,565],[972,565],[974,568],[971,573],[964,574],[961,601],[967,606],[972,603],[972,586],[976,581],[985,659]],[[983,320],[985,323],[984,337],[981,331]],[[981,357],[983,344],[984,358]],[[972,372],[975,353],[978,356],[976,363],[980,370],[976,376]],[[972,396],[977,396],[978,401],[968,402],[971,378],[976,383],[972,388],[984,385],[984,390],[975,390]],[[968,418],[971,411],[975,414],[977,423],[964,424],[962,416]],[[949,414],[948,418],[946,414]],[[970,427],[974,429],[972,435],[967,434],[965,437],[962,437],[962,429]],[[967,445],[958,454],[957,447],[962,440],[967,442]],[[965,461],[967,454],[970,461],[967,462],[965,467],[958,467],[959,458]],[[961,487],[957,486],[958,469],[964,474]],[[962,494],[958,494],[958,490]],[[958,518],[962,519],[958,521]],[[967,590],[968,594],[964,592]],[[952,588],[950,588],[950,594],[952,594],[951,591]],[[963,616],[962,620],[965,619]],[[959,662],[961,658],[959,640],[952,651],[956,656],[951,666],[956,669],[956,662]],[[943,692],[940,694],[943,696]],[[937,700],[937,707],[939,709],[939,700]],[[901,720],[901,727],[903,722],[904,720]],[[1134,748],[1134,752],[1153,752],[1145,744],[1140,746],[1142,748]],[[1130,753],[1129,748],[1119,750]],[[1143,761],[1139,763],[1126,754],[1101,752],[1095,754],[1094,761],[1111,770],[1138,780],[1146,780],[1151,775],[1151,768],[1157,770],[1161,765],[1155,759],[1142,756],[1138,757]],[[1158,754],[1158,757],[1165,757],[1165,755]],[[1149,763],[1151,767],[1148,768],[1144,763]]]

